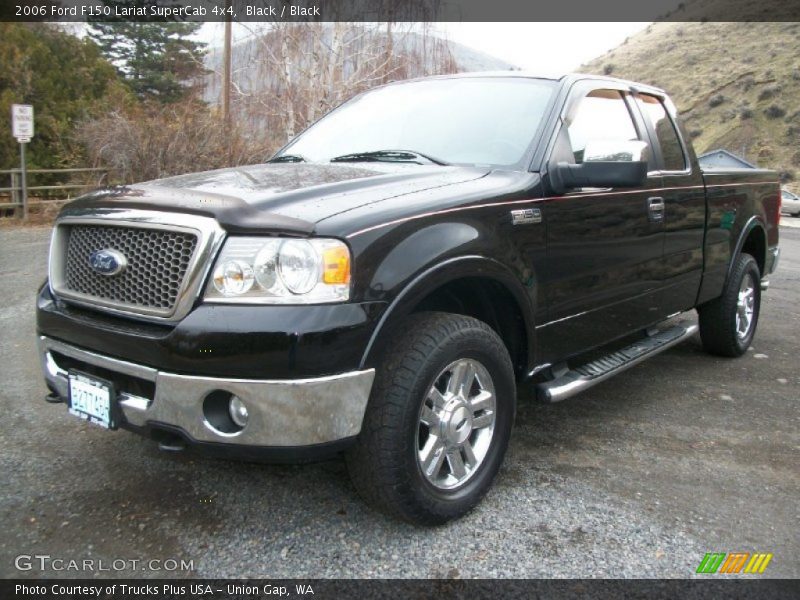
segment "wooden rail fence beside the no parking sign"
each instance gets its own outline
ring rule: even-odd
[[[0,170],[0,177],[9,177],[11,185],[0,187],[0,199],[9,198],[9,202],[0,202],[0,215],[6,211],[13,212],[18,217],[28,214],[28,208],[37,204],[63,202],[73,197],[73,191],[85,191],[107,184],[111,169],[104,167],[81,169],[26,169],[27,179],[30,182],[37,175],[66,175],[67,181],[50,185],[26,185],[24,193],[22,186],[21,169]],[[81,177],[83,182],[76,182],[75,177]]]

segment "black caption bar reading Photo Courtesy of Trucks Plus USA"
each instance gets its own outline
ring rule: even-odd
[[[327,600],[357,598],[514,600],[797,598],[797,580],[0,580],[4,600]]]

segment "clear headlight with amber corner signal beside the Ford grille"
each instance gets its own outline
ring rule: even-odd
[[[230,237],[211,275],[208,302],[344,302],[350,297],[350,250],[324,238]]]

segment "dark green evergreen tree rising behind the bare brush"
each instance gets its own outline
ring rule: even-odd
[[[103,0],[113,15],[135,8],[149,12],[153,2]],[[91,38],[136,96],[162,103],[181,100],[199,85],[205,73],[205,44],[189,36],[202,25],[185,21],[130,21],[116,16],[89,23]]]

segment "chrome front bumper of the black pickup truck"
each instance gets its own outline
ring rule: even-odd
[[[61,398],[68,394],[67,370],[54,353],[153,383],[153,398],[117,389],[125,421],[136,427],[176,427],[198,442],[296,447],[353,437],[361,431],[375,377],[374,369],[295,380],[198,377],[102,356],[46,336],[39,336],[38,343],[45,379]],[[218,390],[235,394],[248,407],[248,422],[241,431],[219,431],[206,419],[204,401]]]

